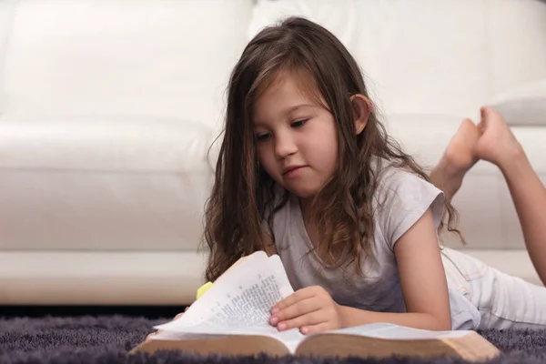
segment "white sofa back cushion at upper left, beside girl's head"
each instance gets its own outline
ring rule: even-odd
[[[6,115],[222,119],[249,0],[17,1]]]

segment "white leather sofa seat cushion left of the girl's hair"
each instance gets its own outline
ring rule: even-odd
[[[197,251],[210,128],[0,119],[0,249]]]

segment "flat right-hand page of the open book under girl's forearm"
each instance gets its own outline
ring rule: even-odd
[[[389,323],[377,323],[368,324],[362,326],[355,326],[346,329],[337,329],[329,331],[328,333],[339,333],[365,336],[369,338],[377,339],[447,339],[447,338],[461,338],[467,335],[470,331],[466,330],[453,330],[453,331],[430,331],[425,329],[413,329],[404,326],[398,326]]]

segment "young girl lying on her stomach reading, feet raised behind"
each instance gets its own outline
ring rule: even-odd
[[[501,116],[484,108],[480,128],[465,120],[428,177],[387,136],[334,35],[294,17],[265,28],[228,86],[207,280],[256,250],[278,254],[296,290],[271,310],[279,330],[546,328],[546,289],[440,249],[444,222],[457,231],[450,198],[480,158],[501,167],[520,201],[544,280],[546,193]]]

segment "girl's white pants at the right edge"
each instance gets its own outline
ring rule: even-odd
[[[441,254],[451,288],[480,312],[476,329],[546,329],[546,288],[457,250],[443,248]]]

